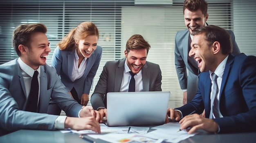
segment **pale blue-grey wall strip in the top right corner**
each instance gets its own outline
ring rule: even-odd
[[[233,0],[234,33],[242,53],[256,56],[256,0]]]

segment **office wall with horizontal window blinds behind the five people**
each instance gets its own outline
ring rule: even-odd
[[[174,39],[186,29],[184,0],[0,0],[0,64],[17,58],[11,45],[12,31],[19,24],[42,22],[47,26],[51,64],[56,44],[79,23],[91,21],[100,33],[103,55],[92,92],[104,64],[124,57],[126,41],[141,34],[151,45],[147,60],[162,70],[162,90],[171,91],[170,108],[182,105],[182,91],[174,65]],[[206,0],[208,24],[234,31],[242,53],[256,56],[256,1]],[[89,96],[90,96],[89,95]],[[90,105],[90,103],[89,103]]]

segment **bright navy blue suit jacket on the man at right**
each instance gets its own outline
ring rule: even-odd
[[[176,108],[183,116],[193,110],[205,117],[211,110],[211,79],[209,72],[199,76],[198,92],[194,99]],[[219,109],[223,118],[213,119],[220,132],[256,131],[256,57],[229,54],[220,86]]]

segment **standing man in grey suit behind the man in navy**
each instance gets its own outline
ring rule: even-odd
[[[183,91],[183,104],[189,103],[195,97],[198,89],[198,75],[200,73],[198,62],[189,57],[190,43],[193,39],[191,33],[194,29],[208,25],[206,23],[209,17],[207,9],[208,4],[204,0],[184,0],[183,14],[188,29],[178,31],[175,36],[175,68],[180,88]],[[237,55],[240,50],[236,44],[234,33],[228,32],[231,35],[233,45],[232,54]]]

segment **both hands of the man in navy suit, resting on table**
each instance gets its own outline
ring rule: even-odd
[[[170,119],[175,119],[175,121],[180,120],[180,130],[184,130],[187,127],[191,127],[186,129],[188,134],[192,134],[197,130],[205,130],[211,133],[218,132],[219,130],[218,124],[213,119],[202,117],[199,114],[186,115],[185,117],[180,119],[181,113],[179,111],[176,111],[172,108],[168,108],[165,120],[166,123],[169,123],[168,116],[170,117]]]

